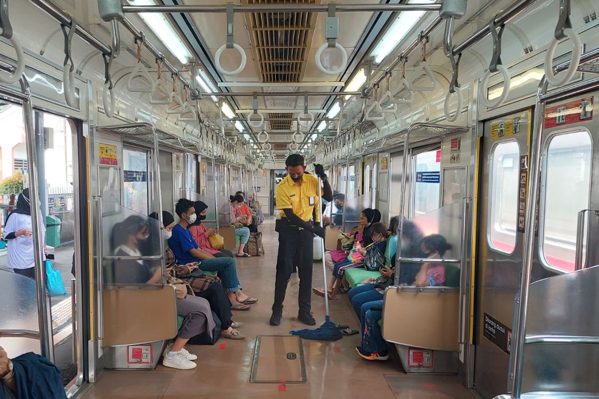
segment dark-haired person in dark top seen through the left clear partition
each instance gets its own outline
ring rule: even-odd
[[[111,248],[114,256],[141,257],[142,249],[150,237],[150,220],[131,215],[113,227]],[[156,284],[162,281],[162,264],[147,260],[116,260],[113,279],[116,284]]]

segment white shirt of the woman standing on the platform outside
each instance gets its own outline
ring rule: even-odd
[[[19,230],[33,231],[31,216],[23,214],[12,214],[8,218],[8,223],[4,226],[4,239],[10,233],[16,233]],[[41,225],[42,242],[46,242],[46,226]],[[43,252],[42,252],[43,253]],[[44,260],[46,259],[46,255]],[[30,269],[35,266],[34,261],[34,236],[26,237],[25,235],[8,240],[8,261],[7,266],[12,269]]]

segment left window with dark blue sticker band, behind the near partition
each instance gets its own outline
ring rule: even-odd
[[[148,209],[148,153],[123,148],[123,198],[126,208],[142,215]]]

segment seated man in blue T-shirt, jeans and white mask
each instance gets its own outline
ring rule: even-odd
[[[198,244],[193,240],[191,233],[187,230],[187,226],[196,220],[193,202],[181,198],[177,201],[175,211],[179,216],[179,223],[173,227],[173,235],[168,239],[168,245],[175,254],[177,262],[181,264],[198,262],[202,270],[218,272],[232,304],[256,303],[257,299],[250,298],[241,291],[241,284],[237,279],[237,270],[235,269],[235,260],[232,258],[215,258],[213,255],[199,249]]]

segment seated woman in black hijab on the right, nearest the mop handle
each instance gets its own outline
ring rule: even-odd
[[[366,253],[368,247],[374,244],[374,241],[372,239],[373,231],[371,230],[371,226],[374,223],[379,222],[379,209],[366,208],[364,209],[364,211],[362,211],[360,215],[360,226],[358,226],[358,229],[355,233],[356,243],[354,244],[354,252],[358,252],[361,255],[361,258],[364,257],[364,254]],[[329,280],[329,285],[328,287],[326,287],[326,295],[328,295],[329,299],[338,298],[339,290],[341,288],[341,281],[343,280],[343,272],[346,269],[350,269],[352,267],[362,266],[362,264],[362,261],[350,260],[344,260],[335,264],[331,279]],[[312,292],[317,296],[325,296],[324,288],[313,288]]]

